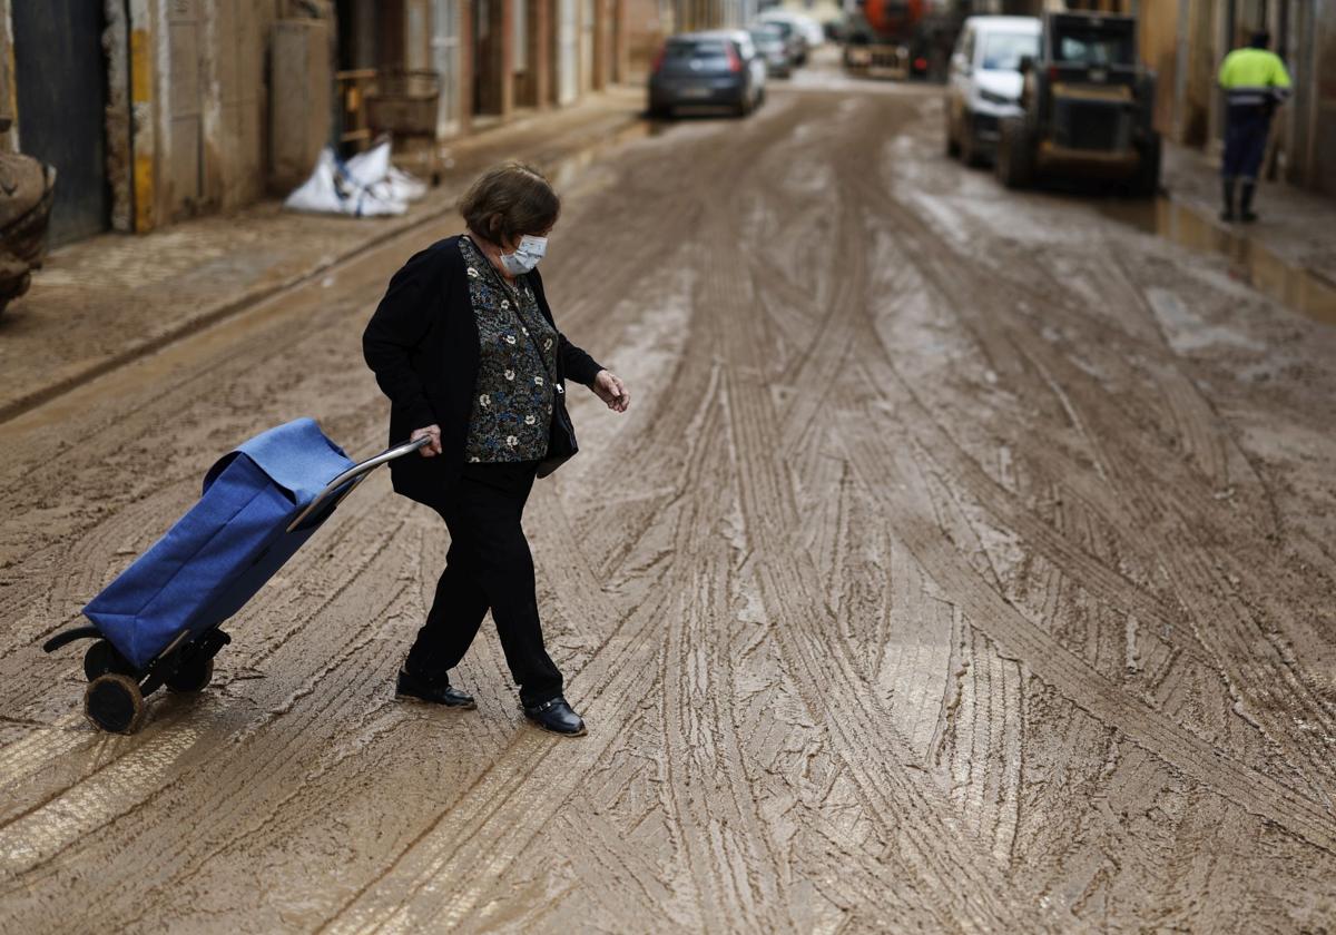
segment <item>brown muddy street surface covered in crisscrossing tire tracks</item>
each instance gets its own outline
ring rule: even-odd
[[[490,622],[477,711],[394,699],[449,541],[385,473],[139,733],[39,648],[236,442],[379,450],[362,327],[457,218],[0,423],[0,930],[1332,928],[1336,331],[942,123],[816,75],[562,174],[635,394],[525,514],[581,739]]]

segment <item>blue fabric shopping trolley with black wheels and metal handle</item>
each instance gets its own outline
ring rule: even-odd
[[[144,699],[163,685],[203,691],[231,637],[220,624],[302,548],[339,501],[378,466],[429,439],[353,463],[314,419],[270,429],[223,455],[199,501],[83,609],[91,626],[47,640],[48,653],[91,638],[84,712],[134,733]]]

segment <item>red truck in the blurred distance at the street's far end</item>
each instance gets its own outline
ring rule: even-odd
[[[844,0],[844,68],[943,80],[969,0]]]

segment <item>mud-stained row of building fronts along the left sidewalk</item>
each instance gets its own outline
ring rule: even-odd
[[[0,0],[0,147],[56,166],[52,243],[282,194],[433,72],[434,140],[623,81],[627,0]],[[417,94],[405,84],[405,94]]]

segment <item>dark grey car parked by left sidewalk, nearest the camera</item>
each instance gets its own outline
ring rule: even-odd
[[[688,32],[669,39],[649,75],[649,112],[728,107],[749,114],[766,99],[766,61],[741,29]]]

